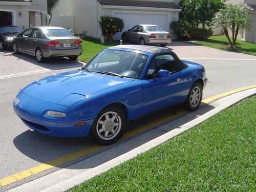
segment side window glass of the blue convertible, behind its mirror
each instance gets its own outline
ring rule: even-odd
[[[175,73],[178,71],[177,61],[173,55],[158,55],[155,58],[157,71],[161,69],[167,70],[170,73]]]

